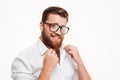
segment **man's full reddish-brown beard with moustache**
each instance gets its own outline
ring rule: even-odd
[[[53,49],[59,49],[61,47],[61,44],[63,41],[63,37],[61,35],[58,35],[56,33],[51,33],[49,35],[47,32],[45,32],[45,30],[43,30],[41,35],[42,35],[43,43],[47,47],[53,48]],[[55,36],[58,37],[58,40],[53,39]]]

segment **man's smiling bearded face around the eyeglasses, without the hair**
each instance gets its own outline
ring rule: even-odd
[[[46,22],[65,26],[67,19],[59,15],[50,14]],[[41,40],[48,48],[58,49],[62,44],[64,34],[61,34],[60,29],[57,32],[51,32],[49,28],[49,25],[41,23]]]

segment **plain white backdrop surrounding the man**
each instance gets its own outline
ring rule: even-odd
[[[64,43],[79,48],[92,80],[120,80],[120,0],[0,0],[0,80],[12,80],[11,64],[39,36],[42,11],[69,12]]]

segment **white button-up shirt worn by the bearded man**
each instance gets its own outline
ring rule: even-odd
[[[60,48],[60,64],[52,71],[50,80],[78,80],[77,66],[73,59]],[[13,80],[37,80],[43,67],[47,47],[38,40],[36,44],[19,54],[12,64]]]

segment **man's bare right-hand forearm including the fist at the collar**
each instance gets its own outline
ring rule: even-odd
[[[65,46],[65,51],[73,58],[78,67],[78,76],[80,80],[91,80],[89,73],[87,72],[82,59],[79,55],[78,49],[73,45]]]

